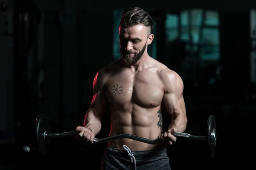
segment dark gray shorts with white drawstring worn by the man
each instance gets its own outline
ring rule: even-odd
[[[171,170],[166,148],[147,151],[128,150],[107,147],[102,159],[102,170]]]

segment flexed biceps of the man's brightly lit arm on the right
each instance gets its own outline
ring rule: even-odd
[[[165,94],[163,102],[169,114],[183,113],[186,115],[186,107],[183,95]]]

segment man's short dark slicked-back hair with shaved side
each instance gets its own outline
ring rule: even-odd
[[[149,36],[153,28],[153,19],[146,11],[139,7],[125,9],[122,11],[122,17],[119,26],[122,25],[124,28],[129,28],[139,24],[149,27]]]

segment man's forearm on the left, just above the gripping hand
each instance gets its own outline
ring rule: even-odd
[[[84,118],[84,127],[89,128],[96,136],[102,127],[101,118],[96,116],[94,111],[90,109]]]

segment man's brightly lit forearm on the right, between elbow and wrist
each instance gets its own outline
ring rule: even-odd
[[[176,113],[171,116],[172,122],[169,125],[169,129],[177,128],[178,132],[184,132],[186,130],[187,118],[183,113]]]

